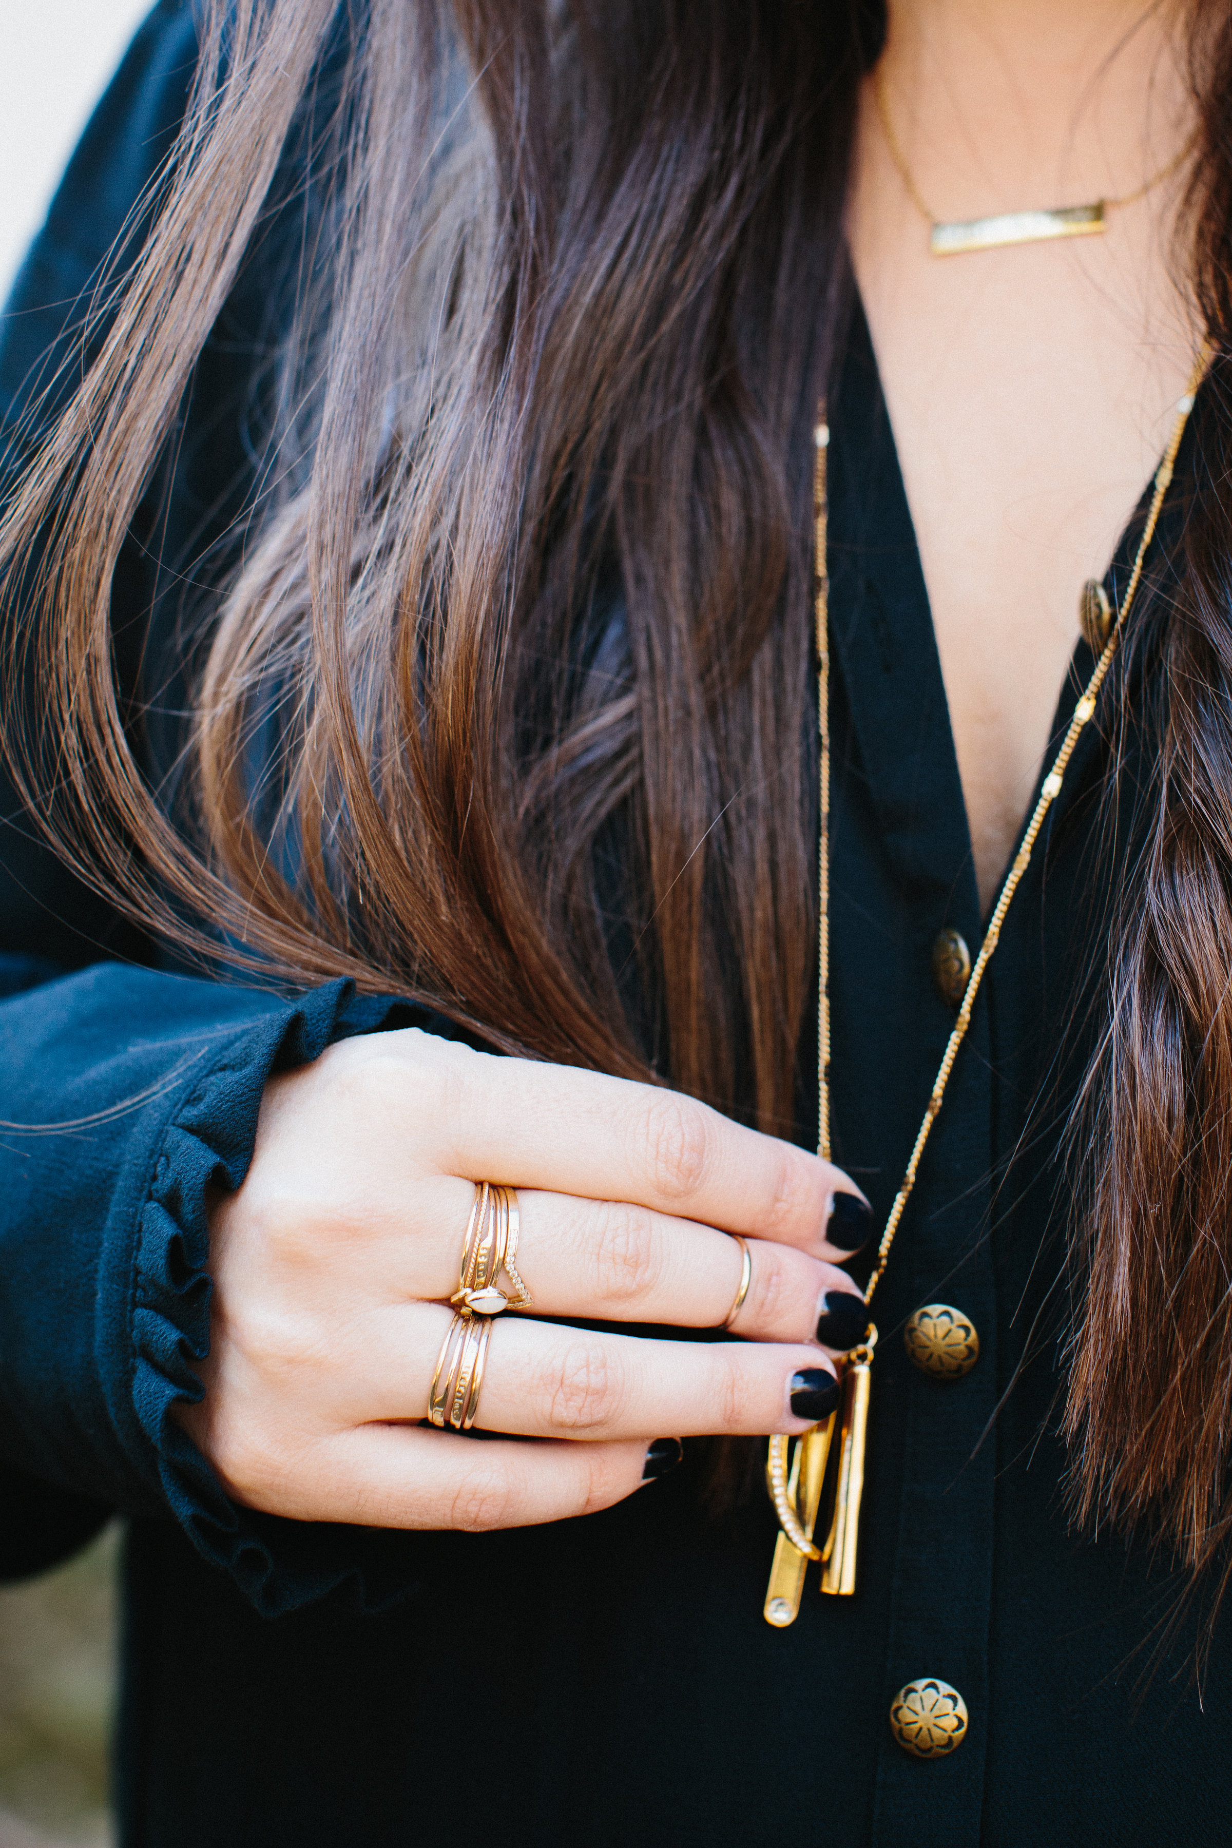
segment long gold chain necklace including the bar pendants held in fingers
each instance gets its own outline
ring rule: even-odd
[[[1204,346],[1193,371],[1190,375],[1190,384],[1184,397],[1177,403],[1177,418],[1173,423],[1173,432],[1164,451],[1164,460],[1154,471],[1154,493],[1151,495],[1151,506],[1147,510],[1147,521],[1141,529],[1141,540],[1138,541],[1138,553],[1134,556],[1134,567],[1125,586],[1125,597],[1119,601],[1116,612],[1116,621],[1110,626],[1103,652],[1095,663],[1095,671],[1082,689],[1082,697],[1073,708],[1073,717],[1062,739],[1060,750],[1053,758],[1053,763],[1040,785],[1040,798],[1031,813],[1027,830],[1021,837],[1021,846],[1018,848],[1014,861],[1005,876],[1001,893],[988,918],[988,930],[984,931],[984,941],[981,944],[975,967],[966,981],[966,991],[962,994],[962,1003],[959,1007],[959,1018],[953,1024],[949,1042],[942,1055],[942,1063],[933,1079],[933,1088],[929,1092],[929,1101],[924,1111],[924,1120],[916,1131],[916,1140],[907,1161],[907,1170],[903,1173],[898,1194],[894,1196],[894,1205],[890,1207],[890,1216],[885,1223],[881,1234],[881,1244],[877,1246],[877,1262],[874,1266],[872,1277],[868,1279],[868,1288],[864,1290],[864,1303],[872,1303],[877,1284],[885,1275],[885,1268],[890,1260],[890,1247],[907,1210],[907,1201],[911,1199],[911,1190],[916,1185],[916,1175],[920,1172],[920,1161],[924,1149],[933,1133],[933,1124],[940,1114],[940,1107],[946,1096],[946,1085],[949,1083],[949,1074],[953,1072],[955,1059],[966,1031],[972,1024],[972,1009],[975,1007],[975,998],[979,994],[981,983],[988,963],[992,961],[997,942],[1001,941],[1001,928],[1005,926],[1005,915],[1014,902],[1014,893],[1018,891],[1027,867],[1031,865],[1031,854],[1040,837],[1040,828],[1044,826],[1044,817],[1060,795],[1060,787],[1069,767],[1073,750],[1082,736],[1082,730],[1095,715],[1095,700],[1099,689],[1105,684],[1112,660],[1119,647],[1121,636],[1125,632],[1125,623],[1138,597],[1138,588],[1141,584],[1141,573],[1147,558],[1151,541],[1154,540],[1154,529],[1160,519],[1160,510],[1164,506],[1164,497],[1171,486],[1173,468],[1177,464],[1177,451],[1180,449],[1180,438],[1184,436],[1190,412],[1193,410],[1193,399],[1210,366],[1210,349]],[[829,449],[829,427],[826,423],[824,407],[818,416],[816,431],[816,462],[813,471],[813,521],[815,521],[815,621],[816,621],[816,723],[818,723],[818,1061],[816,1061],[816,1083],[818,1083],[818,1135],[816,1135],[816,1153],[822,1161],[829,1161],[829,577],[826,569],[826,519],[827,519],[827,499],[826,499],[826,456]],[[811,1430],[796,1441],[794,1456],[791,1456],[789,1438],[770,1438],[770,1451],[767,1456],[767,1488],[774,1502],[776,1514],[779,1517],[779,1536],[774,1545],[774,1565],[770,1567],[770,1584],[767,1587],[767,1599],[763,1615],[767,1623],[783,1630],[787,1624],[796,1621],[800,1611],[800,1597],[803,1591],[803,1578],[809,1560],[822,1562],[822,1591],[829,1591],[837,1597],[850,1597],[855,1591],[855,1567],[857,1567],[857,1549],[859,1549],[859,1514],[861,1499],[864,1493],[864,1441],[868,1432],[868,1399],[872,1392],[872,1358],[877,1345],[876,1323],[868,1323],[864,1340],[859,1347],[853,1347],[840,1362],[842,1371],[842,1401],[839,1410],[815,1425]],[[822,1504],[822,1491],[826,1486],[827,1464],[831,1456],[831,1440],[835,1434],[835,1425],[839,1425],[839,1456],[835,1465],[835,1482],[831,1491],[831,1517],[824,1545],[815,1545],[813,1532],[816,1526],[816,1515]]]

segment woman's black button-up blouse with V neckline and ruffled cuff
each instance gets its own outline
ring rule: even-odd
[[[192,54],[188,7],[163,0],[9,305],[9,432],[31,368],[166,148]],[[199,551],[235,506],[260,314],[257,266],[198,373],[164,562]],[[933,946],[949,928],[975,950],[981,918],[920,558],[859,316],[831,432],[835,1159],[883,1220],[953,1024]],[[174,602],[137,541],[116,612],[122,636],[131,625],[148,641],[122,663],[150,671],[174,658]],[[1081,645],[1058,726],[1092,665]],[[181,723],[170,699],[161,713],[146,739],[155,776]],[[608,1514],[482,1538],[303,1526],[225,1501],[166,1416],[194,1392],[188,1358],[209,1329],[205,1188],[242,1177],[270,1070],[423,1015],[356,1002],[342,983],[284,1003],[170,972],[159,946],[87,904],[6,796],[0,1118],[91,1122],[61,1137],[6,1127],[0,1142],[0,1571],[39,1569],[109,1512],[127,1515],[126,1848],[1221,1839],[1226,1621],[1202,1702],[1201,1610],[1169,1626],[1184,1582],[1145,1545],[1077,1536],[1064,1506],[1062,1135],[1134,821],[1127,808],[1108,859],[1106,772],[1095,723],[1010,911],[877,1295],[859,1591],[820,1597],[813,1569],[789,1630],[761,1615],[768,1502],[709,1519],[693,1456]],[[811,1063],[805,1048],[802,1070]],[[120,1100],[137,1101],[111,1111]],[[815,1101],[803,1085],[802,1142]],[[936,1382],[911,1364],[903,1325],[925,1303],[973,1321],[966,1377]],[[933,1763],[888,1726],[896,1691],[924,1676],[953,1684],[970,1711],[960,1748]]]

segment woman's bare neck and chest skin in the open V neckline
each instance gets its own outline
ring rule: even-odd
[[[938,218],[1132,192],[1184,146],[1184,30],[1141,0],[892,0],[898,140]],[[936,259],[863,98],[850,214],[990,907],[1079,626],[1167,440],[1197,329],[1178,176],[1103,237]]]

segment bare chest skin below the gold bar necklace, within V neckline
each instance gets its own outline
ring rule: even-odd
[[[1149,216],[936,259],[872,142],[852,251],[929,593],[981,902],[1079,636],[1171,429],[1195,336]]]

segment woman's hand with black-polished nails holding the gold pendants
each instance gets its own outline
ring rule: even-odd
[[[423,1423],[477,1179],[519,1188],[534,1295],[493,1323],[477,1425],[534,1443]],[[818,1318],[839,1349],[857,1338],[831,1260],[866,1231],[837,1168],[676,1092],[417,1031],[347,1040],[270,1083],[248,1179],[212,1212],[205,1401],[183,1417],[235,1501],[270,1514],[589,1514],[641,1484],[663,1432],[796,1432],[829,1410]],[[743,1275],[728,1233],[752,1249],[741,1340],[550,1319],[719,1327]]]

